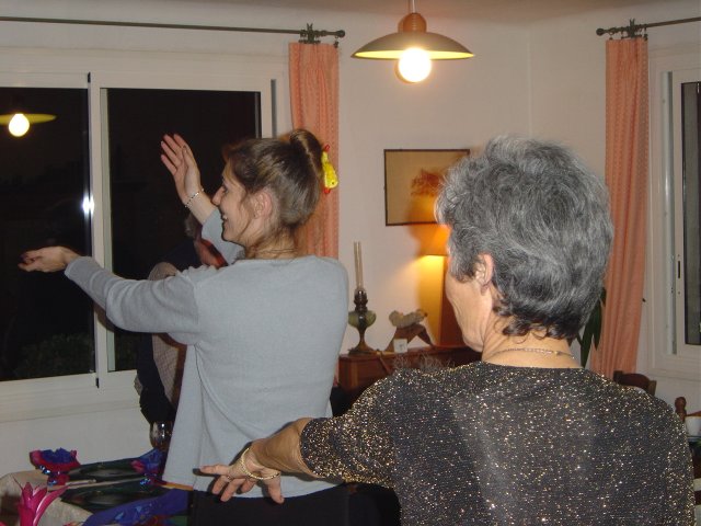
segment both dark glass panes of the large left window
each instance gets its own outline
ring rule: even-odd
[[[185,239],[187,210],[160,161],[165,133],[180,133],[197,156],[203,185],[220,184],[221,148],[258,137],[260,93],[184,90],[103,90],[102,137],[108,160],[103,178],[108,202],[94,214],[105,225],[107,266],[129,278],[146,278],[164,254]],[[20,254],[46,244],[93,253],[87,89],[0,88],[0,113],[16,106],[54,114],[22,137],[0,127],[0,380],[85,374],[95,370],[93,305],[62,273],[24,273]],[[101,236],[96,236],[102,242]],[[111,328],[114,330],[114,328]],[[143,335],[114,330],[110,370],[131,369]],[[95,351],[97,350],[97,351]]]

